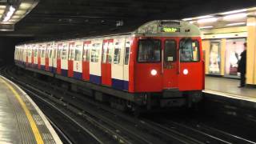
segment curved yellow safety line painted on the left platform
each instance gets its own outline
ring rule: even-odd
[[[26,104],[22,101],[21,96],[17,93],[16,90],[14,90],[13,86],[10,86],[9,83],[7,83],[4,79],[2,79],[2,82],[6,84],[7,87],[9,87],[9,89],[14,93],[15,97],[18,99],[18,102],[21,104],[22,109],[25,111],[26,113],[26,117],[28,118],[29,122],[30,122],[30,126],[33,130],[34,133],[34,138],[36,139],[38,144],[43,144],[44,142],[42,141],[42,136],[38,130],[37,125],[34,122],[34,119],[32,118],[32,115],[30,114],[30,110],[28,110],[28,108],[26,107]]]

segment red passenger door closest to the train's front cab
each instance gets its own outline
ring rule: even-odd
[[[102,84],[111,86],[111,61],[113,39],[103,40],[102,46]]]

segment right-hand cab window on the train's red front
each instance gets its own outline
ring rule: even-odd
[[[198,62],[199,61],[199,42],[191,38],[180,41],[181,62]]]

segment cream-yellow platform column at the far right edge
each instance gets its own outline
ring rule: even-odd
[[[256,85],[256,17],[247,18],[246,84]]]

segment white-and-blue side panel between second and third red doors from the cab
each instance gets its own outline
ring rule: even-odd
[[[74,48],[74,78],[82,79],[82,41],[75,42]]]

